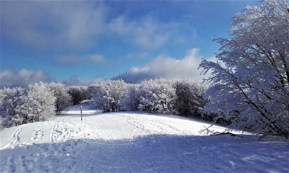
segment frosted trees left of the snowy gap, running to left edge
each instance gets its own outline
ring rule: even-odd
[[[74,104],[88,97],[88,87],[61,83],[36,83],[27,88],[0,90],[0,129],[25,123],[45,121],[55,114],[63,114]]]

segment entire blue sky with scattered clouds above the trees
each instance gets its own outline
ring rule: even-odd
[[[1,1],[1,88],[200,80],[230,19],[257,1]]]

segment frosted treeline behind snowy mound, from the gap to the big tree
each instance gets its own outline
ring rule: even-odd
[[[91,104],[102,112],[140,110],[159,114],[178,114],[212,121],[201,110],[208,85],[187,79],[145,80],[127,84],[123,80],[105,80],[88,87]]]

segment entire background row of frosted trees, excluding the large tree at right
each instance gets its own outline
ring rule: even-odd
[[[99,84],[68,86],[62,83],[36,83],[27,88],[0,90],[0,127],[12,127],[63,114],[85,99],[102,112],[147,111],[159,114],[193,116],[213,121],[202,113],[208,85],[187,79],[145,80],[127,84],[123,80],[105,80]]]

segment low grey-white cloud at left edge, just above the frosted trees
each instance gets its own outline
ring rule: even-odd
[[[4,70],[0,73],[1,88],[15,86],[27,87],[29,84],[42,82],[52,82],[51,76],[43,70],[27,70],[21,69],[15,72],[11,69]],[[55,80],[54,80],[55,81]]]

